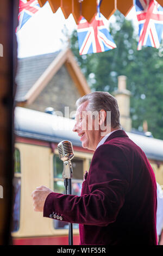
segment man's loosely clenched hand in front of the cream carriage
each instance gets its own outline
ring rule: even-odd
[[[32,192],[34,211],[43,211],[45,200],[48,194],[52,192],[52,190],[45,186],[36,187],[36,190]]]

